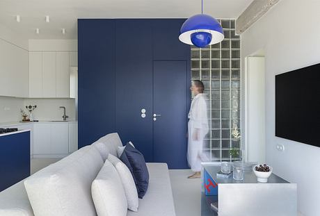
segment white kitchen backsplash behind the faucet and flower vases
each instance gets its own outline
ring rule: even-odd
[[[0,123],[3,122],[19,122],[22,117],[20,108],[25,106],[37,105],[33,110],[33,119],[40,121],[62,120],[63,109],[60,106],[65,106],[68,120],[76,120],[76,108],[74,99],[23,99],[16,97],[0,96]]]

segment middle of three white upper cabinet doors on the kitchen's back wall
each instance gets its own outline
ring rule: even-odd
[[[42,97],[56,97],[56,52],[42,52]]]

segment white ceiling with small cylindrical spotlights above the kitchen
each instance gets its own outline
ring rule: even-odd
[[[252,1],[204,0],[204,13],[237,18]],[[28,39],[75,39],[78,18],[186,18],[198,13],[200,0],[0,0],[0,24]]]

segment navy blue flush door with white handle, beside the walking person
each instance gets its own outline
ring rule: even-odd
[[[170,169],[186,167],[187,93],[186,61],[154,61],[154,162]]]

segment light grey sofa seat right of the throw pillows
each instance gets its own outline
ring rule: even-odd
[[[139,199],[138,212],[128,210],[127,216],[175,216],[173,192],[166,163],[147,163],[149,188]]]

